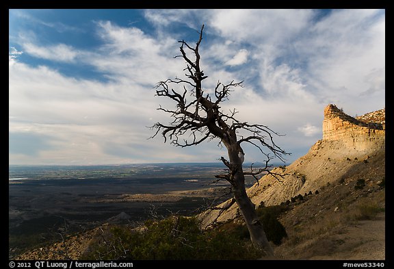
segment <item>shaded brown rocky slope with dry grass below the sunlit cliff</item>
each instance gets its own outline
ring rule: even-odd
[[[283,259],[385,259],[385,153],[380,151],[280,216]]]

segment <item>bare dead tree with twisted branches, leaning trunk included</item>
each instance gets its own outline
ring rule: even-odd
[[[202,87],[202,81],[207,78],[200,68],[199,47],[202,41],[202,25],[196,46],[190,46],[185,40],[181,43],[181,57],[186,62],[185,79],[176,77],[159,81],[156,87],[156,95],[166,97],[174,101],[176,108],[170,110],[159,107],[158,110],[171,114],[174,118],[171,123],[164,125],[155,123],[151,128],[155,130],[154,138],[161,131],[164,142],[170,140],[175,146],[194,146],[206,140],[218,139],[220,144],[226,146],[228,159],[221,157],[221,161],[227,167],[226,173],[217,175],[219,179],[225,179],[231,183],[233,195],[242,216],[250,232],[250,239],[255,248],[263,252],[263,255],[272,256],[273,250],[267,241],[263,226],[255,211],[255,206],[248,198],[245,188],[245,175],[257,175],[268,169],[268,162],[273,157],[265,153],[268,149],[274,157],[283,160],[283,155],[289,154],[280,149],[274,143],[273,136],[279,135],[265,125],[250,124],[235,118],[236,110],[224,113],[221,103],[226,101],[230,92],[235,87],[242,87],[243,81],[222,84],[218,81],[211,94],[206,94]],[[189,54],[192,54],[190,56]],[[194,54],[194,56],[193,56]],[[192,58],[193,57],[193,58]],[[174,88],[172,88],[174,87]],[[267,157],[265,168],[250,169],[244,172],[244,150],[241,145],[252,144]],[[277,177],[278,178],[278,177]]]

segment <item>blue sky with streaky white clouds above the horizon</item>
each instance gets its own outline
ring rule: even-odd
[[[159,136],[160,80],[181,77],[178,40],[200,46],[204,87],[244,81],[223,110],[267,125],[293,162],[321,139],[329,103],[385,106],[384,10],[10,10],[10,164],[218,162],[218,141]],[[246,162],[264,156],[247,147]]]

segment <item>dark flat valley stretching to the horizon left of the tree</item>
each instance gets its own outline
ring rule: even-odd
[[[226,182],[213,183],[223,169],[220,163],[10,166],[10,255],[59,240],[65,227],[75,233],[119,222],[119,214],[135,224],[153,214],[195,214],[226,192]]]

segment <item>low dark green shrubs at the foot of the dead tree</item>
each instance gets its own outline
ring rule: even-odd
[[[241,225],[239,225],[241,226]],[[112,228],[82,259],[257,259],[242,227],[201,231],[196,218],[146,222],[144,231]]]

